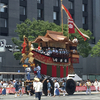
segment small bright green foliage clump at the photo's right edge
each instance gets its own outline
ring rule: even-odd
[[[92,48],[92,51],[91,51],[91,56],[92,57],[100,57],[100,40],[99,42]]]

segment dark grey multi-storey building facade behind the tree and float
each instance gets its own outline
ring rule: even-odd
[[[99,40],[100,0],[63,0],[64,6],[70,11],[76,25],[79,28],[90,30],[95,37],[92,44]],[[61,24],[60,0],[0,0],[0,39],[5,39],[7,45],[12,45],[11,38],[16,37],[16,25],[27,18],[32,20],[44,20]],[[63,12],[63,22],[67,24],[66,13]],[[91,62],[91,63],[90,63]],[[78,75],[100,73],[99,58],[82,58],[79,64],[74,64],[75,73]],[[6,48],[0,52],[0,72],[24,71],[24,68],[16,61],[13,53]],[[85,76],[84,76],[85,77]]]

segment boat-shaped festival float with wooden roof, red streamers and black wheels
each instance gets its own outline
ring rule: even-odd
[[[62,4],[61,4],[62,5]],[[74,27],[76,27],[79,34],[86,40],[87,35],[83,34],[76,24],[74,23],[70,13],[62,5],[63,9],[68,15],[69,21],[69,32],[73,32]],[[62,24],[63,27],[63,24]],[[73,27],[73,28],[72,28]],[[62,28],[63,29],[63,28]],[[27,37],[23,37],[24,42],[22,44],[22,59],[21,62],[24,63],[28,58],[28,63],[34,72],[34,66],[39,64],[41,66],[41,75],[47,76],[49,78],[52,87],[53,81],[51,78],[66,78],[68,74],[73,74],[73,64],[79,63],[79,53],[77,52],[78,42],[73,42],[69,39],[69,35],[64,36],[62,32],[55,32],[47,30],[45,36],[38,36],[34,41],[28,41]],[[37,43],[38,48],[33,48],[31,44]],[[47,95],[47,85],[44,81],[44,94]],[[69,95],[75,92],[76,83],[72,79],[66,81],[66,91]]]

